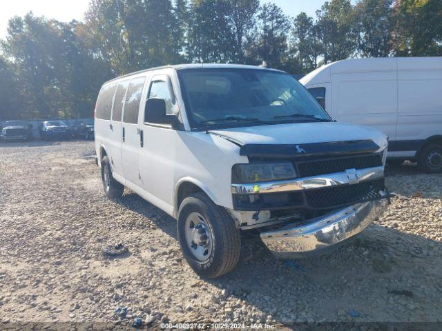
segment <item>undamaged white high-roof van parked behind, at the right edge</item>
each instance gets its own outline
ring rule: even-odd
[[[338,61],[300,83],[333,119],[385,132],[389,162],[442,172],[442,57]]]

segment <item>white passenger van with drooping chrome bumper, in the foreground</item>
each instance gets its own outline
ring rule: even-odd
[[[332,121],[278,70],[191,64],[108,81],[95,148],[105,194],[126,186],[177,219],[204,277],[236,265],[241,232],[301,257],[358,234],[387,205],[385,134]]]

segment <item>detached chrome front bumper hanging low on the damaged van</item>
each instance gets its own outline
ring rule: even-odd
[[[278,230],[262,232],[260,236],[267,248],[282,259],[326,253],[367,228],[386,207],[387,199],[358,203],[304,225],[289,224]]]

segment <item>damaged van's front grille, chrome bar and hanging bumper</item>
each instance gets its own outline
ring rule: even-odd
[[[371,147],[369,142],[364,146]],[[388,204],[386,149],[349,152],[349,144],[344,147],[343,154],[281,156],[294,165],[296,178],[232,183],[233,219],[242,230],[257,229],[267,248],[284,259],[329,252],[354,237]]]

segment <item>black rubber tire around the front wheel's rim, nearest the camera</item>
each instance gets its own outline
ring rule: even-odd
[[[205,261],[199,261],[193,255],[186,241],[186,219],[192,212],[201,214],[211,231],[213,245]],[[178,211],[177,233],[184,258],[202,277],[220,277],[238,263],[241,252],[240,230],[236,228],[231,216],[204,193],[192,194],[182,201]]]

